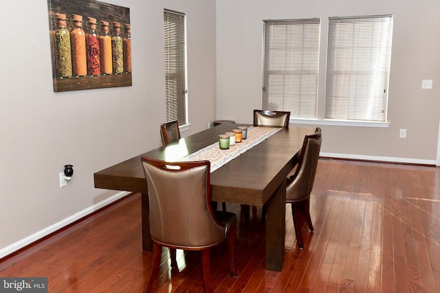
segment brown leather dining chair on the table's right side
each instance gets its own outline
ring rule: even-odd
[[[319,127],[314,134],[305,136],[296,171],[293,176],[287,178],[286,203],[292,206],[296,240],[300,249],[303,249],[304,243],[301,227],[298,226],[298,217],[302,215],[310,231],[314,231],[310,218],[310,194],[314,187],[321,142],[322,131]]]

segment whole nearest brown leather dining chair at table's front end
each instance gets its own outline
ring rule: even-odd
[[[229,242],[230,273],[235,275],[236,215],[213,211],[210,204],[210,161],[166,162],[142,156],[148,187],[153,268],[145,292],[151,292],[159,270],[162,247],[201,250],[203,282],[212,292],[210,248]]]

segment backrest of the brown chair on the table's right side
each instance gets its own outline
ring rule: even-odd
[[[314,134],[306,135],[301,148],[300,159],[292,183],[287,183],[286,200],[308,198],[314,187],[316,167],[321,149],[322,131],[317,127]]]

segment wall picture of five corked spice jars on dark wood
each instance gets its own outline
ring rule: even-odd
[[[48,0],[54,91],[131,86],[130,10]]]

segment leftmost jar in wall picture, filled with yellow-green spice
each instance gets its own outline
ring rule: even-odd
[[[70,51],[70,33],[69,30],[67,30],[66,15],[56,13],[55,18],[55,75],[57,78],[70,78],[72,76],[72,55]]]

